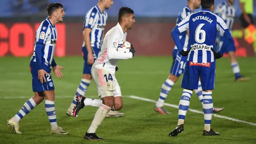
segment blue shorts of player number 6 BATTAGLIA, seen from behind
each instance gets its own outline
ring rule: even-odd
[[[199,76],[203,90],[214,90],[216,62],[186,62],[181,87],[191,90],[198,89]]]

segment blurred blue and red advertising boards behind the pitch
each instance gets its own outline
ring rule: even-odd
[[[216,4],[222,1],[224,0],[216,0]],[[47,17],[46,7],[50,2],[62,3],[66,12],[64,23],[56,24],[58,42],[55,56],[81,55],[84,16],[98,0],[1,0],[0,56],[31,56],[35,31],[40,22]],[[108,22],[105,32],[116,25],[118,9],[121,6],[128,6],[134,10],[136,24],[128,32],[127,40],[136,48],[136,55],[169,56],[174,47],[170,32],[186,2],[187,0],[114,0],[111,8],[106,10]],[[253,45],[245,42],[240,36],[238,0],[235,6],[237,18],[233,26],[233,36],[236,42],[236,55],[252,56]]]

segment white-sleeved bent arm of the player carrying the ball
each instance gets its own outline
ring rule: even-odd
[[[107,58],[109,60],[127,60],[134,56],[134,53],[132,53],[133,48],[131,48],[131,52],[126,52],[126,53],[118,52],[116,49],[118,47],[119,41],[121,41],[119,36],[110,36],[108,38]]]

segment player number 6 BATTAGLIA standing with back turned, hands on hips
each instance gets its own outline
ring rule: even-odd
[[[194,89],[198,88],[199,77],[203,89],[203,110],[204,110],[204,136],[219,135],[210,127],[212,120],[212,90],[216,75],[215,59],[221,58],[224,51],[232,42],[232,36],[224,20],[213,14],[214,0],[201,0],[202,10],[188,15],[173,30],[172,37],[182,56],[187,56],[181,87],[184,88],[179,103],[178,126],[170,132],[169,136],[177,136],[184,131],[184,119],[190,104],[190,98]],[[190,49],[183,50],[179,34],[189,31]],[[220,52],[214,51],[216,33],[220,32],[225,40]]]

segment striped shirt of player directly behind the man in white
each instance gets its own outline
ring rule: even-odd
[[[108,14],[103,11],[103,13],[100,11],[98,6],[92,7],[89,12],[86,14],[84,19],[84,29],[90,28],[92,32],[90,33],[90,40],[91,40],[91,46],[92,48],[98,48],[100,49],[100,46],[102,45],[102,35],[106,26],[106,21],[108,18]],[[83,41],[82,47],[85,46],[85,42]],[[98,54],[97,54],[98,55]]]

